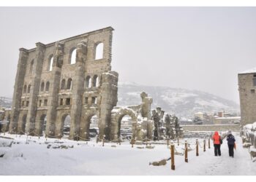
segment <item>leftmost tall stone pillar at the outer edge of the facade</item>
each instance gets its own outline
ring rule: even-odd
[[[17,132],[18,129],[18,118],[20,114],[20,100],[23,91],[23,81],[24,76],[26,74],[26,63],[29,57],[29,51],[20,48],[20,55],[18,60],[18,68],[15,77],[15,86],[14,92],[12,96],[12,114],[11,114],[11,121],[10,121],[10,132],[14,133]]]

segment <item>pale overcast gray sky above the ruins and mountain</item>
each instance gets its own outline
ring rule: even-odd
[[[255,7],[0,7],[0,96],[12,97],[18,49],[112,26],[121,82],[181,87],[236,103],[256,67]]]

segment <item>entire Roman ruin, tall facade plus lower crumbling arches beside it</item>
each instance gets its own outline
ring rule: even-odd
[[[121,120],[132,119],[132,138],[139,141],[181,136],[175,117],[157,108],[141,92],[141,103],[118,107],[118,73],[111,70],[113,28],[102,28],[50,44],[20,48],[12,110],[1,113],[10,121],[2,131],[20,135],[88,140],[91,119],[97,116],[97,138],[121,140]],[[164,123],[166,120],[166,124]],[[163,129],[166,127],[166,130]],[[178,129],[177,129],[178,128]],[[166,133],[165,133],[166,132]]]

